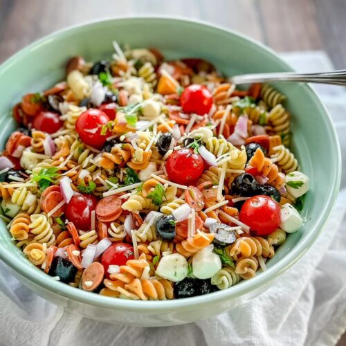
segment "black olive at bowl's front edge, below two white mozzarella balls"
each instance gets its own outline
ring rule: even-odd
[[[174,285],[174,297],[176,299],[195,297],[214,291],[217,291],[217,288],[211,284],[210,280],[192,279],[191,277],[186,277]]]

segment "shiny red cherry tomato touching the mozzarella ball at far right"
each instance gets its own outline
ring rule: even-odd
[[[240,221],[250,226],[255,235],[270,235],[280,225],[279,203],[271,197],[258,195],[246,200],[239,214]]]

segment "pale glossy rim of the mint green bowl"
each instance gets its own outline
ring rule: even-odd
[[[275,51],[271,48],[264,46],[262,43],[257,42],[255,39],[243,35],[242,33],[238,33],[235,30],[230,30],[228,28],[224,28],[223,26],[212,24],[208,21],[202,21],[197,19],[188,19],[186,17],[177,17],[177,16],[166,16],[166,15],[126,15],[121,17],[111,17],[102,20],[88,21],[82,24],[69,26],[62,30],[57,30],[49,35],[42,37],[41,39],[36,40],[35,42],[29,44],[28,46],[22,48],[19,52],[15,53],[8,58],[3,64],[0,65],[0,78],[1,73],[6,71],[8,67],[12,64],[15,64],[17,60],[20,60],[23,55],[30,53],[30,51],[34,51],[39,46],[46,44],[46,42],[50,42],[53,39],[61,38],[66,34],[75,34],[84,30],[86,27],[95,27],[99,25],[105,25],[107,22],[113,21],[171,21],[176,22],[176,24],[184,24],[184,25],[193,25],[208,28],[209,30],[214,31],[217,35],[233,35],[236,39],[240,39],[242,41],[247,41],[248,44],[254,46],[255,48],[260,48],[263,53],[266,55],[275,57],[275,59],[280,62],[282,65],[282,69],[286,71],[293,71],[291,66],[284,62],[280,58]],[[254,291],[255,289],[260,289],[260,287],[266,286],[269,282],[275,280],[276,277],[284,273],[287,269],[289,269],[295,262],[297,262],[304,253],[311,247],[313,242],[316,241],[317,237],[322,232],[323,226],[326,224],[329,215],[331,213],[332,208],[336,202],[336,197],[338,195],[338,190],[340,187],[340,179],[341,179],[341,152],[340,145],[338,143],[336,129],[331,120],[331,116],[327,111],[325,105],[322,103],[318,95],[316,94],[311,86],[308,84],[304,85],[305,90],[309,93],[309,97],[314,100],[314,102],[324,111],[325,116],[327,117],[327,131],[329,132],[329,136],[331,141],[334,141],[335,148],[335,174],[334,174],[334,184],[333,188],[329,193],[329,197],[327,201],[325,201],[326,208],[320,213],[318,219],[312,228],[309,230],[309,234],[300,240],[300,242],[287,254],[274,264],[271,268],[261,273],[256,277],[253,277],[251,280],[244,280],[239,284],[230,287],[229,289],[217,291],[214,293],[209,293],[207,295],[199,295],[197,297],[192,298],[184,298],[184,299],[175,299],[175,300],[165,300],[165,301],[141,301],[141,300],[123,300],[123,299],[114,299],[111,297],[107,297],[104,295],[99,295],[87,291],[83,291],[82,289],[75,289],[72,286],[64,284],[62,282],[58,282],[53,278],[46,275],[46,273],[40,271],[38,268],[32,268],[31,266],[23,266],[23,262],[18,260],[17,253],[11,251],[6,246],[3,246],[2,251],[0,251],[0,259],[5,262],[12,270],[16,271],[22,277],[30,280],[36,285],[41,286],[42,288],[55,293],[56,295],[60,295],[63,298],[69,298],[71,300],[75,300],[84,304],[91,304],[95,307],[104,307],[108,309],[122,309],[122,311],[143,311],[143,312],[172,312],[172,311],[186,311],[191,309],[192,307],[197,308],[199,304],[211,304],[224,300],[230,300],[234,298],[239,298],[246,293]],[[24,280],[25,281],[25,280]],[[174,309],[174,310],[172,310]]]

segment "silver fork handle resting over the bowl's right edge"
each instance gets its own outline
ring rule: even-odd
[[[346,86],[346,70],[322,73],[254,73],[248,75],[234,75],[230,77],[229,80],[237,85],[255,82],[305,82]]]

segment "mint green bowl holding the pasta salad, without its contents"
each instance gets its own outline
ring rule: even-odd
[[[21,95],[48,88],[64,79],[64,65],[73,55],[95,61],[110,57],[111,42],[131,47],[157,47],[165,57],[202,57],[226,75],[291,71],[273,51],[237,33],[183,19],[111,19],[69,28],[31,44],[0,66],[0,146],[15,129],[10,109]],[[268,270],[255,278],[209,295],[170,301],[107,298],[55,281],[30,264],[10,240],[0,222],[0,259],[26,286],[42,297],[104,322],[140,326],[178,325],[215,316],[262,293],[310,248],[322,231],[338,194],[340,148],[324,105],[303,84],[275,85],[287,96],[293,114],[293,151],[302,172],[311,179],[300,231],[289,235],[270,260]]]

